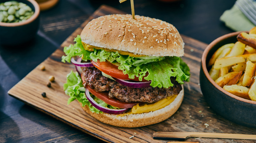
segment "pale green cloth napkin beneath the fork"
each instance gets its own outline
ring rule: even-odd
[[[234,31],[249,31],[255,26],[236,5],[224,11],[220,20]]]

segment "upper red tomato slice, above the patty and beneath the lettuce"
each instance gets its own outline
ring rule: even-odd
[[[135,77],[134,79],[130,79],[128,74],[124,74],[122,70],[119,70],[118,67],[108,61],[100,62],[99,60],[97,62],[91,61],[92,64],[99,69],[100,71],[113,76],[115,78],[124,79],[124,80],[135,80],[139,81],[138,77]],[[147,73],[146,73],[147,75]],[[146,82],[147,80],[142,78],[142,82]]]

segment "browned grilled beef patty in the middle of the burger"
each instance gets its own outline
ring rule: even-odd
[[[82,76],[84,76],[84,86],[87,84],[96,91],[109,91],[110,98],[117,98],[122,102],[156,102],[171,95],[178,95],[182,89],[181,85],[171,77],[173,87],[159,88],[132,88],[126,87],[118,82],[107,78],[101,74],[95,67],[82,67]]]

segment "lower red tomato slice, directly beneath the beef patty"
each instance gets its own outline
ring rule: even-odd
[[[90,88],[90,86],[88,85],[86,85],[86,88],[100,100],[118,108],[132,108],[134,105],[137,104],[136,102],[121,102],[117,98],[109,98],[108,92],[97,92],[96,90]]]

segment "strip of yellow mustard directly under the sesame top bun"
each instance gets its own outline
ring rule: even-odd
[[[87,51],[94,51],[93,49],[104,49],[107,52],[118,52],[121,55],[129,55],[129,56],[133,56],[133,57],[146,56],[146,55],[135,55],[135,54],[133,54],[131,52],[125,52],[125,51],[119,51],[119,50],[113,50],[113,49],[111,50],[111,49],[100,48],[100,47],[88,45],[88,44],[84,43],[83,41],[82,41],[82,44],[84,46],[84,49],[87,50]]]

